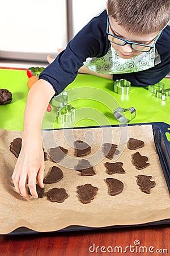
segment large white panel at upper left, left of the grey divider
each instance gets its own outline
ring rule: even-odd
[[[3,51],[50,53],[65,47],[66,16],[66,0],[1,0],[0,54]]]

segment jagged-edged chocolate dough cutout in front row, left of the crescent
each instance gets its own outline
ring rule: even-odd
[[[91,203],[97,194],[98,188],[93,187],[91,184],[79,185],[76,187],[80,201],[83,204]]]

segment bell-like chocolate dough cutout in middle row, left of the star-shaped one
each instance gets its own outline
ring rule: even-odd
[[[93,176],[96,174],[94,167],[86,159],[79,160],[79,164],[75,167],[76,171],[81,173],[81,176]]]

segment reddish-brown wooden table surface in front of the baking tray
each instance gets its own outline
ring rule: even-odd
[[[67,233],[0,236],[0,255],[170,255],[169,240],[169,224]]]

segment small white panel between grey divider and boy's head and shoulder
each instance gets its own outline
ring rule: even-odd
[[[105,9],[107,0],[72,0],[73,35],[82,29],[94,16]]]

